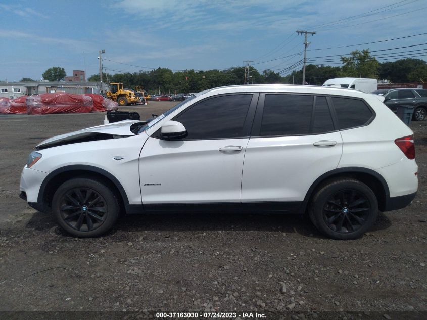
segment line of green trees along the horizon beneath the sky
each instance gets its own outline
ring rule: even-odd
[[[422,82],[427,80],[427,62],[421,59],[406,58],[393,62],[380,63],[371,56],[368,49],[350,53],[349,57],[341,57],[342,66],[325,66],[322,64],[308,64],[306,66],[306,82],[310,85],[322,85],[327,79],[338,77],[376,78],[386,79],[393,83]],[[250,84],[286,83],[301,84],[302,68],[282,76],[273,70],[259,72],[249,67]],[[60,81],[66,76],[61,67],[52,67],[43,73],[43,78],[49,81]],[[173,72],[168,68],[157,68],[151,71],[133,73],[103,73],[104,82],[123,83],[125,88],[144,86],[150,94],[164,93],[191,93],[205,89],[244,84],[248,82],[245,67],[232,67],[226,70],[183,70]],[[99,82],[99,74],[90,76],[88,81]],[[33,81],[23,78],[21,81]]]

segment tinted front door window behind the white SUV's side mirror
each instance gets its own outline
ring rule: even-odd
[[[252,95],[220,96],[204,100],[176,117],[187,130],[186,139],[223,139],[243,136]]]

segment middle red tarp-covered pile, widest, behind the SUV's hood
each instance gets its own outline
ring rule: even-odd
[[[87,113],[92,109],[92,98],[85,95],[54,93],[27,98],[28,114]]]

